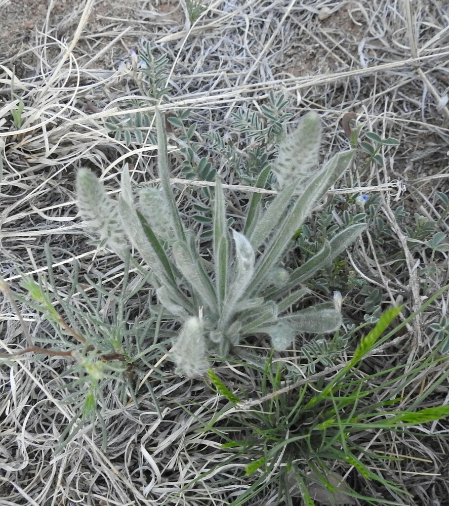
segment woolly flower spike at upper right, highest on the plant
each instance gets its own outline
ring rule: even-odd
[[[318,163],[320,143],[320,116],[310,111],[300,119],[296,130],[279,145],[278,160],[273,172],[281,188],[310,175]]]

